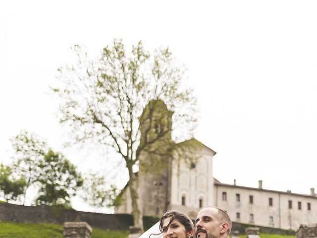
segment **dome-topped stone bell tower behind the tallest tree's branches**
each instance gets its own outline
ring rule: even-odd
[[[143,214],[161,216],[170,203],[170,170],[174,142],[172,115],[162,100],[152,100],[139,117],[139,194]]]

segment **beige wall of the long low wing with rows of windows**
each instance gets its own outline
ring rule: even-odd
[[[215,185],[214,190],[215,206],[227,211],[235,222],[297,230],[300,224],[317,221],[316,197],[221,184]],[[222,200],[222,192],[227,194],[226,201]],[[237,193],[240,194],[240,202],[236,201]],[[253,204],[249,202],[249,195],[253,195]],[[269,206],[269,198],[273,199],[272,206]],[[289,200],[292,200],[292,209],[288,208]],[[301,210],[298,209],[298,201],[302,203]],[[311,211],[307,210],[308,202],[311,203]],[[240,213],[240,219],[236,218],[236,213]],[[254,221],[250,221],[250,214],[254,215]],[[270,216],[273,223],[269,221]]]

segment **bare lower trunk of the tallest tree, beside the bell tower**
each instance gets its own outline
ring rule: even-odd
[[[130,180],[129,180],[129,187],[130,187],[130,193],[131,193],[131,200],[132,200],[132,215],[134,219],[134,226],[141,228],[141,231],[143,232],[143,214],[139,209],[139,194],[138,194],[138,176],[135,175],[132,172],[131,169],[128,168]]]

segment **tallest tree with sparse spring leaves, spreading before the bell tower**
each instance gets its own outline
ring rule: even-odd
[[[141,42],[127,52],[114,40],[95,60],[77,45],[73,50],[77,62],[60,67],[52,86],[61,99],[60,122],[71,128],[73,142],[97,141],[120,155],[129,173],[134,222],[143,227],[135,167],[145,155],[151,165],[170,157],[173,141],[190,138],[196,125],[196,99],[181,84],[184,67],[168,48],[151,55]]]

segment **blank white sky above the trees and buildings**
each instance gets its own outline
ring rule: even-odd
[[[194,3],[195,2],[195,3]],[[0,161],[25,128],[62,150],[48,96],[70,46],[97,55],[113,38],[169,46],[199,99],[195,137],[217,152],[221,182],[317,188],[317,1],[6,1],[0,4]],[[98,151],[63,152],[81,171],[107,166]],[[112,165],[113,166],[113,165]],[[75,209],[87,210],[74,202]]]

